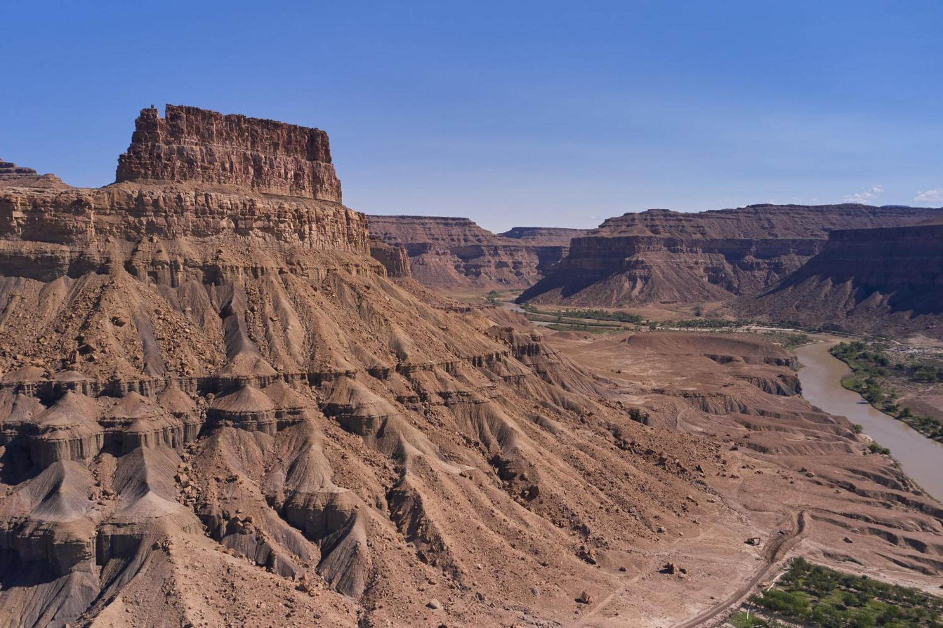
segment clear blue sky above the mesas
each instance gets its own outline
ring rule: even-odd
[[[318,126],[346,205],[493,230],[938,207],[941,25],[938,0],[15,2],[0,157],[105,185],[173,103]]]

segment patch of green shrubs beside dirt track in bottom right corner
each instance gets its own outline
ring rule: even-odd
[[[867,576],[853,576],[792,561],[775,587],[751,596],[760,618],[740,611],[728,618],[737,628],[789,625],[809,628],[943,628],[943,598]],[[777,621],[778,620],[778,621]]]

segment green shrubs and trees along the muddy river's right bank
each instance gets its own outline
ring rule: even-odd
[[[861,394],[870,405],[935,440],[943,440],[943,423],[934,417],[914,414],[909,407],[897,403],[898,392],[885,389],[891,378],[927,383],[943,381],[943,368],[929,362],[901,362],[894,364],[888,355],[873,349],[867,342],[839,342],[832,347],[832,355],[845,362],[852,375],[841,380],[841,385]]]

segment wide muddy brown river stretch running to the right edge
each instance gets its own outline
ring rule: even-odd
[[[829,353],[837,342],[814,342],[796,349],[802,364],[799,370],[802,396],[829,414],[859,423],[865,434],[890,450],[907,475],[943,502],[943,444],[875,410],[858,393],[842,388],[841,378],[850,374],[851,369]]]

